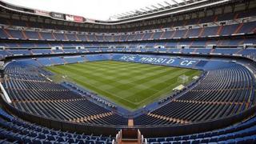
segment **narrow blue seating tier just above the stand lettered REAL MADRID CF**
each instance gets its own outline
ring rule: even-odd
[[[253,39],[248,39],[247,42],[253,41]],[[232,42],[232,41],[231,41]],[[190,44],[191,42],[178,42],[179,44]],[[86,49],[74,49],[71,46],[68,48],[64,48],[63,50],[50,50],[48,49],[39,49],[37,48],[32,48],[31,50],[27,50],[25,48],[22,48],[22,50],[18,49],[15,50],[15,48],[9,50],[0,50],[0,57],[5,58],[8,56],[12,55],[38,55],[38,54],[82,54],[86,52],[107,52],[107,51],[113,51],[113,52],[154,52],[154,53],[181,53],[181,54],[190,54],[190,53],[198,53],[198,54],[224,54],[224,55],[232,55],[232,54],[242,54],[244,57],[249,57],[249,58],[256,58],[256,49],[254,48],[247,48],[247,49],[241,49],[241,48],[216,48],[216,49],[209,49],[209,48],[186,48],[186,49],[180,49],[180,48],[152,48],[154,46],[176,46],[178,43],[173,43],[173,42],[150,42],[150,43],[139,43],[136,45],[146,45],[148,47],[146,48],[139,48],[137,46],[130,46],[130,48],[123,48],[121,46],[116,46],[117,48],[110,49],[110,48],[94,48],[98,47],[98,45],[90,45],[93,46],[90,48]],[[192,42],[195,43],[195,42]],[[199,43],[199,42],[197,42]],[[224,43],[224,42],[222,42]],[[35,44],[34,44],[35,45]],[[106,46],[111,46],[113,44],[106,44]],[[41,44],[40,44],[41,46]],[[44,46],[44,45],[42,45]],[[78,45],[80,46],[80,45]],[[124,45],[125,46],[125,45]],[[53,62],[56,62],[56,64],[62,64],[64,63],[61,59],[56,59],[54,58],[52,60]]]

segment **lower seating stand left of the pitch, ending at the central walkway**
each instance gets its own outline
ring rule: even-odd
[[[127,124],[126,118],[114,114],[113,111],[106,110],[63,86],[49,82],[36,72],[30,74],[29,71],[33,70],[33,67],[27,65],[27,62],[21,62],[21,64],[12,62],[6,67],[8,78],[4,86],[14,107],[19,110],[69,122],[98,125]],[[33,66],[38,64],[34,62]],[[98,115],[101,116],[98,118]],[[91,118],[91,116],[97,116],[97,118]]]

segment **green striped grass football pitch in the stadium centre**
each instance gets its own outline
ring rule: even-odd
[[[186,83],[201,74],[200,70],[116,61],[49,66],[46,70],[54,73],[55,82],[75,82],[128,110],[171,94],[182,83],[178,77],[183,74],[188,76]]]

